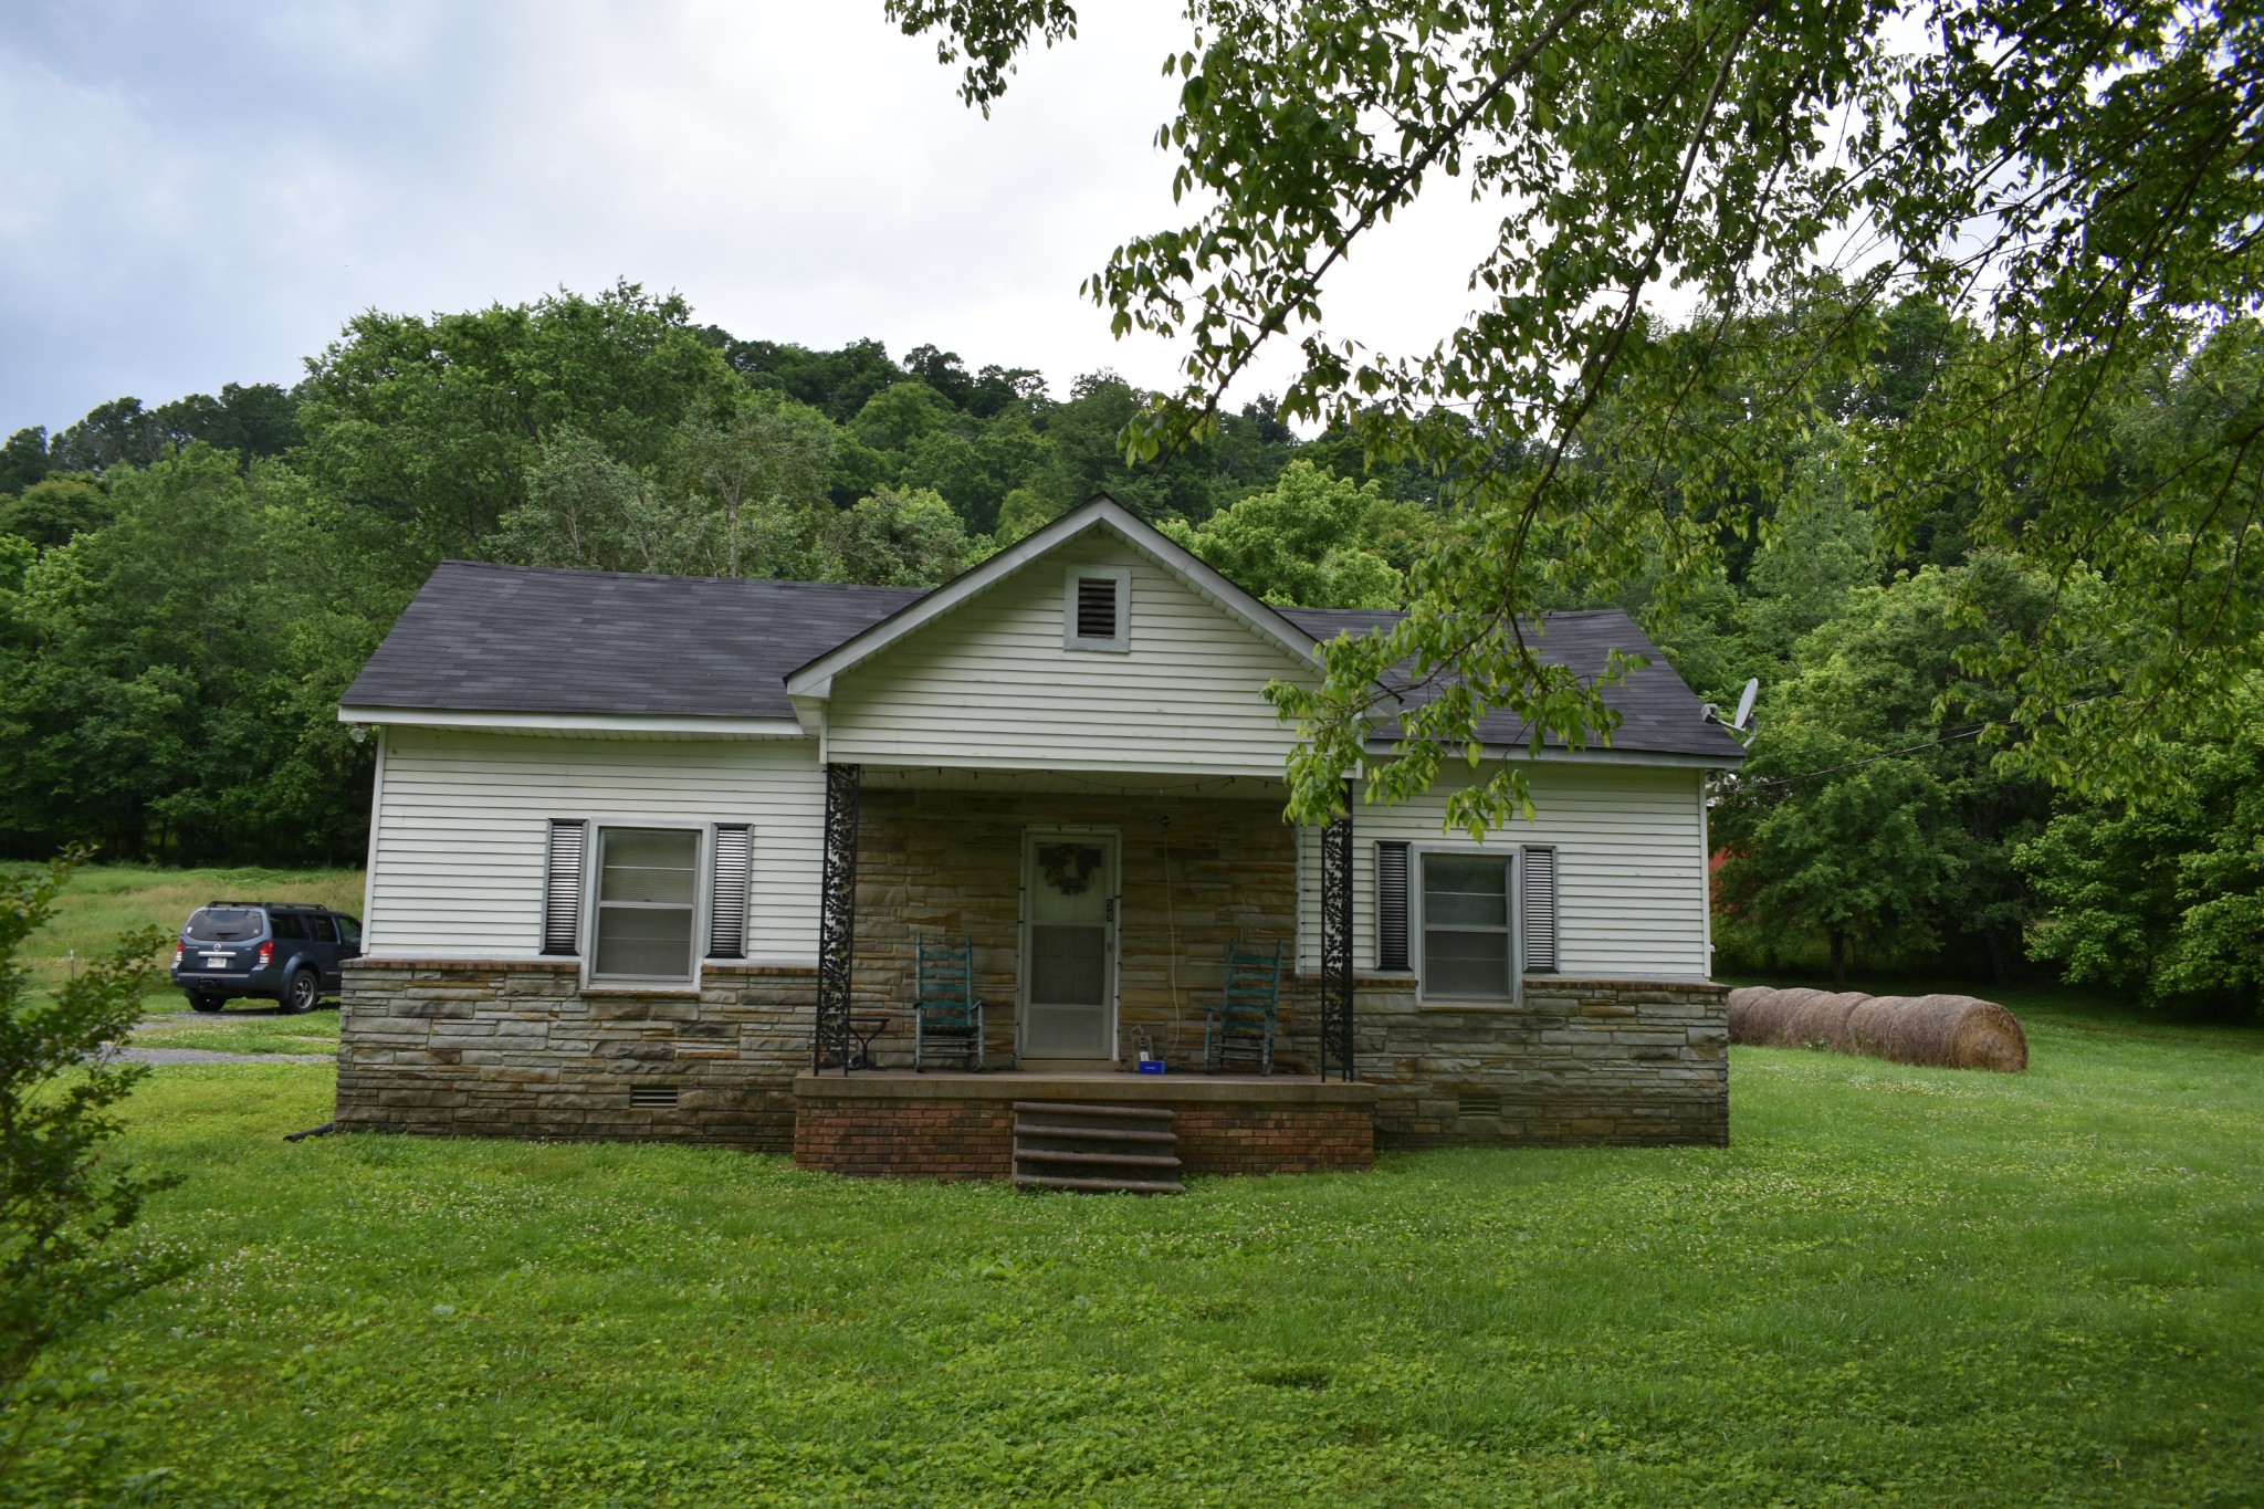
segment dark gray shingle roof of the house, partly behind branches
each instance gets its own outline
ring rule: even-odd
[[[645,577],[446,561],[346,688],[349,708],[792,717],[786,676],[919,600],[915,588],[731,577]],[[1397,613],[1284,609],[1315,638],[1361,633]],[[1542,656],[1580,674],[1616,645],[1650,667],[1605,692],[1614,749],[1741,758],[1698,699],[1616,611],[1551,613]],[[1490,742],[1521,742],[1510,717]]]

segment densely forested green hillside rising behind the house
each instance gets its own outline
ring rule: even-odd
[[[1875,518],[1863,446],[1893,443],[1965,339],[1931,305],[1888,310],[1868,378],[1823,394],[1795,441],[1766,441],[1782,452],[1755,473],[1775,482],[1750,498],[1755,527],[1721,523],[1712,586],[1612,593],[1703,695],[1764,683],[1752,765],[1714,819],[1721,964],[2001,977],[2044,959],[2158,1000],[2255,1004],[2255,719],[2230,740],[2160,731],[2182,783],[2133,803],[2001,774],[1974,738],[2008,708],[1988,649],[2085,584],[1972,550],[1974,502],[1954,493],[1915,536]],[[2257,333],[2230,326],[2103,396],[2121,466],[2072,486],[2144,493],[2158,439],[2255,403],[2259,371]],[[451,557],[919,586],[1096,491],[1275,602],[1390,606],[1456,547],[1451,477],[1370,466],[1338,434],[1300,441],[1270,400],[1127,464],[1118,437],[1143,405],[1112,373],[1055,398],[1041,373],[969,371],[935,346],[738,339],[620,285],[371,312],[290,391],[120,398],[18,430],[0,448],[0,853],[358,860],[371,749],[335,704]],[[1601,405],[1576,466],[1610,477],[1614,423]],[[1641,484],[1680,507],[1671,475]],[[1628,575],[1542,554],[1542,597],[1562,606]]]

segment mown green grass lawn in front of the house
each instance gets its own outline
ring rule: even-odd
[[[2010,1004],[2024,1077],[1734,1050],[1727,1149],[1161,1201],[285,1145],[326,1068],[168,1068],[129,1152],[204,1269],[54,1360],[0,1495],[2264,1500],[2264,1032]]]

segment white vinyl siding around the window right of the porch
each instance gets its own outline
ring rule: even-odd
[[[1655,765],[1535,762],[1533,821],[1490,844],[1442,833],[1447,783],[1399,805],[1352,810],[1352,964],[1377,964],[1377,839],[1424,851],[1555,848],[1558,975],[1569,980],[1705,980],[1707,860],[1703,774]],[[1297,966],[1320,968],[1320,833],[1297,835]]]

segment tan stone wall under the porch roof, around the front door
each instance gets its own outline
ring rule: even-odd
[[[1313,1004],[1295,975],[1297,830],[1281,799],[926,792],[865,787],[858,819],[856,1004],[912,1002],[915,934],[974,937],[989,1061],[1014,1054],[1021,968],[1021,839],[1044,826],[1116,828],[1121,864],[1118,1050],[1146,1029],[1170,1066],[1202,1059],[1202,1014],[1218,995],[1227,941],[1281,943],[1275,1063],[1313,1072]],[[1177,991],[1173,989],[1177,986]],[[908,1032],[874,1043],[912,1063]]]

